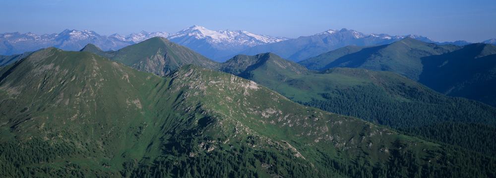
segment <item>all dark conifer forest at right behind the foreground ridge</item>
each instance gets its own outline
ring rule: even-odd
[[[409,100],[398,101],[382,88],[362,85],[330,90],[321,94],[325,100],[312,99],[302,104],[386,125],[403,134],[496,155],[494,107],[441,94],[427,97],[417,88],[395,88],[391,93],[403,93],[402,97]]]

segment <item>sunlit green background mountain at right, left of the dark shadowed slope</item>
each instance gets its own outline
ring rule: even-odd
[[[310,70],[349,67],[390,71],[417,81],[423,70],[421,57],[444,54],[460,48],[462,47],[457,45],[435,45],[407,37],[389,45],[347,46],[299,63]]]

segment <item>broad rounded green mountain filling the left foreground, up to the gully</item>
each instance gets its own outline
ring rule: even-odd
[[[118,175],[122,162],[144,157],[143,142],[157,139],[141,132],[154,119],[146,92],[159,77],[56,48],[0,70],[0,167],[11,169],[2,173],[37,176],[45,166],[52,176],[71,170],[73,176]]]

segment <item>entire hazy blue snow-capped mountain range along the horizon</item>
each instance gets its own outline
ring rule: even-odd
[[[285,59],[295,62],[317,56],[330,50],[347,45],[385,45],[410,37],[427,43],[438,45],[468,45],[466,41],[434,42],[428,37],[417,35],[390,36],[387,34],[363,34],[355,30],[327,30],[312,36],[288,39],[284,37],[270,37],[255,35],[243,30],[208,30],[201,26],[191,26],[180,32],[170,34],[166,32],[132,33],[128,36],[114,34],[101,36],[93,31],[64,30],[59,34],[35,35],[32,33],[4,33],[0,34],[0,54],[22,54],[46,47],[57,47],[63,50],[80,50],[87,44],[93,44],[107,50],[118,50],[127,45],[136,44],[153,37],[164,37],[171,42],[184,45],[194,51],[216,61],[226,61],[237,54],[255,55],[273,52]],[[496,39],[483,43],[496,44]]]

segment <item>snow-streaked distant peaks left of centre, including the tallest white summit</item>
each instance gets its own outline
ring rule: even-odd
[[[200,26],[192,26],[175,34],[142,31],[128,36],[114,34],[108,37],[100,36],[96,32],[88,30],[64,30],[60,34],[52,35],[5,33],[0,34],[0,54],[8,56],[46,47],[77,51],[87,44],[96,45],[106,51],[118,50],[153,37],[168,38],[172,42],[184,45],[208,58],[216,60],[221,60],[224,56],[229,56],[228,58],[230,58],[236,53],[255,45],[275,43],[288,39],[255,35],[243,30],[212,31]]]

